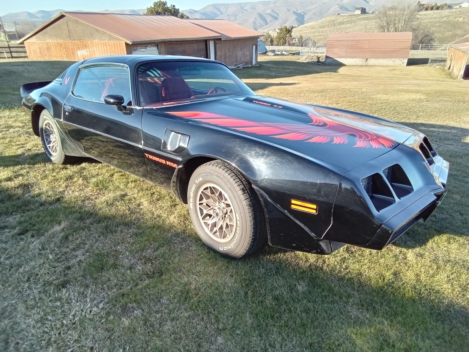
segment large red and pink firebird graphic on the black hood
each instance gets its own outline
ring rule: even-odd
[[[386,137],[310,113],[308,116],[312,121],[307,124],[250,121],[200,111],[167,112],[167,114],[273,138],[312,143],[332,141],[333,144],[347,144],[348,136],[355,136],[354,147],[385,148],[394,145],[394,142]]]

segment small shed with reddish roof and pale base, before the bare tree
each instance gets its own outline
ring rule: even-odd
[[[412,32],[333,33],[326,65],[407,65]]]

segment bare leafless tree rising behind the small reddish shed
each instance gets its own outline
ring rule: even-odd
[[[396,4],[378,12],[378,26],[382,32],[405,32],[411,30],[417,15],[415,4]],[[425,9],[425,8],[424,8]]]

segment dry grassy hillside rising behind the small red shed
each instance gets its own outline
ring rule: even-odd
[[[469,8],[422,11],[417,14],[416,30],[431,31],[437,43],[461,43],[469,40]],[[312,37],[318,45],[324,45],[330,33],[376,32],[376,14],[330,16],[303,24],[293,30],[293,36]]]

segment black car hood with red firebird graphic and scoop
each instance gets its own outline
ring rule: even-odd
[[[370,115],[265,96],[207,99],[164,111],[258,138],[345,170],[392,150],[415,133]]]

